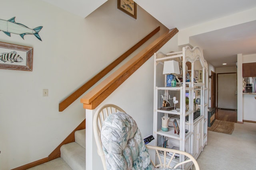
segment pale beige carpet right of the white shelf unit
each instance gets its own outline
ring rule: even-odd
[[[197,158],[200,170],[255,169],[256,123],[234,124],[232,135],[208,131],[208,143]]]

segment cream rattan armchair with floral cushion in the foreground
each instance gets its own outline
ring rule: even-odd
[[[145,145],[134,119],[113,104],[104,105],[96,111],[93,128],[104,170],[177,170],[191,162],[199,170],[198,163],[187,152]],[[150,160],[148,149],[156,151],[158,164]],[[168,152],[172,153],[171,158],[166,157]],[[172,167],[175,154],[184,155],[186,159]]]

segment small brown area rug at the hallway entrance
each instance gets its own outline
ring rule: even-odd
[[[215,120],[211,127],[208,127],[208,131],[226,133],[231,135],[234,131],[235,123],[230,121]]]

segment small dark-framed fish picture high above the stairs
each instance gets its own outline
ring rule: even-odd
[[[117,0],[117,8],[137,19],[137,4],[133,0]]]

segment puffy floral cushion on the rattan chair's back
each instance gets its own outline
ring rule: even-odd
[[[112,113],[100,133],[108,170],[154,170],[136,122],[123,112]]]

